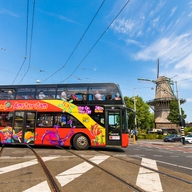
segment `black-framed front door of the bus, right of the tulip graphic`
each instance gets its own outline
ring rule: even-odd
[[[122,114],[121,110],[105,110],[105,127],[107,145],[121,146],[122,142]]]

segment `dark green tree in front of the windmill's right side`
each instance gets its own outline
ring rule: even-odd
[[[169,104],[170,113],[167,116],[167,119],[171,121],[171,123],[175,123],[179,125],[179,106],[177,100],[172,100]],[[187,115],[184,114],[183,109],[181,108],[181,115],[183,119],[186,119]]]

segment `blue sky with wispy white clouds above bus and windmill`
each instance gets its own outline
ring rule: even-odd
[[[115,82],[148,101],[155,84],[137,79],[159,59],[192,122],[191,45],[192,0],[0,1],[1,84]]]

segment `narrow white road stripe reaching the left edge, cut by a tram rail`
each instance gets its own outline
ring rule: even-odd
[[[58,157],[59,156],[43,157],[42,159],[43,159],[43,161],[49,161],[49,160],[52,160],[52,159],[56,159]],[[10,165],[10,166],[7,166],[7,167],[2,167],[2,168],[0,168],[0,175],[4,174],[4,173],[11,172],[11,171],[15,171],[15,170],[18,170],[18,169],[21,169],[21,168],[29,167],[29,166],[35,165],[37,163],[38,163],[37,159],[33,159],[31,161],[27,161],[27,162],[23,162],[23,163],[18,163],[18,164]]]

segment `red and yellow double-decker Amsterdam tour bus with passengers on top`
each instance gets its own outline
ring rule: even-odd
[[[0,143],[125,148],[128,113],[120,88],[114,83],[1,85]]]

